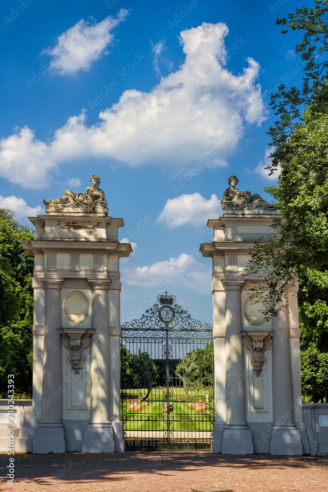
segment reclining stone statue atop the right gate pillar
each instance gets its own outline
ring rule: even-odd
[[[264,209],[264,210],[274,210],[276,205],[268,203],[263,198],[254,193],[251,195],[250,191],[241,191],[237,189],[238,178],[236,176],[230,176],[228,183],[229,188],[223,193],[221,200],[222,210],[226,211],[238,211],[238,210],[254,210],[254,209]]]

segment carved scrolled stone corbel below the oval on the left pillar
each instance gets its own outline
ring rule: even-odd
[[[83,363],[86,360],[83,353],[90,346],[90,334],[94,329],[61,328],[62,344],[68,348],[70,355],[68,361],[75,371],[80,374]]]

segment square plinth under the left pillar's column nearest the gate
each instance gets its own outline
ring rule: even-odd
[[[114,453],[113,426],[105,424],[89,424],[84,431],[82,453]]]

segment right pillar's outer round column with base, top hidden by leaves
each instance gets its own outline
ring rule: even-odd
[[[294,400],[290,330],[287,309],[272,318],[272,400],[273,426],[271,455],[301,455],[300,434],[294,424]]]

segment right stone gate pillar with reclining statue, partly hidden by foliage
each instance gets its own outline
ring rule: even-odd
[[[212,452],[300,455],[308,443],[301,417],[297,287],[287,293],[289,310],[266,321],[250,291],[264,280],[245,276],[254,241],[270,237],[272,220],[281,215],[259,195],[238,190],[235,176],[229,184],[223,216],[208,221],[213,241],[201,245],[213,261]]]

